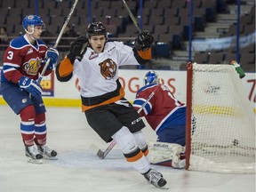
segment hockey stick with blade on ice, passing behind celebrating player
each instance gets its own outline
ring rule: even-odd
[[[159,86],[156,87],[156,90]],[[138,114],[140,114],[141,110],[147,105],[148,101],[151,100],[151,98],[155,95],[156,90],[151,92],[151,94],[148,96],[148,99],[145,100],[145,102],[142,104],[142,106],[138,110]],[[100,148],[98,148],[96,145],[92,144],[91,149],[96,152],[96,156],[99,156],[100,159],[104,159],[106,156],[108,156],[108,153],[116,146],[116,140],[112,140],[110,144],[108,145],[108,148],[106,150],[102,151]]]

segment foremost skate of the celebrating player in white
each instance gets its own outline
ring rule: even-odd
[[[163,175],[160,172],[156,172],[156,170],[150,169],[143,175],[149,183],[156,186],[157,188],[168,189],[168,187],[166,186],[167,182],[166,180],[164,180]]]

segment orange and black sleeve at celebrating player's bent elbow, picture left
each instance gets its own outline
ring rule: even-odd
[[[60,82],[67,82],[73,76],[73,70],[74,68],[71,61],[65,57],[56,67],[55,73],[57,79]]]

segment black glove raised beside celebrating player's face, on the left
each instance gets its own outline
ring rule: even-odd
[[[86,52],[88,44],[88,38],[85,36],[78,36],[76,40],[70,44],[67,57],[71,63],[74,63],[76,59],[79,61],[83,59],[84,52]]]

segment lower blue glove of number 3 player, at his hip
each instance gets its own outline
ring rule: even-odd
[[[28,76],[22,76],[18,83],[21,89],[25,89],[35,97],[39,97],[43,92],[41,85]]]

